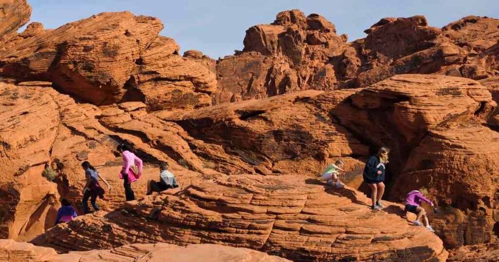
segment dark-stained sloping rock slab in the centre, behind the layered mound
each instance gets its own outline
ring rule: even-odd
[[[316,176],[336,158],[344,157],[353,168],[360,161],[350,156],[368,154],[368,147],[327,111],[308,103],[321,93],[308,90],[156,115],[188,130],[196,138],[187,141],[192,151],[222,173]]]

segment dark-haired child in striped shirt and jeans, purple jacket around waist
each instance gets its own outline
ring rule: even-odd
[[[85,170],[85,178],[87,180],[87,183],[83,188],[83,212],[88,214],[90,212],[88,210],[88,199],[90,198],[90,203],[92,204],[94,210],[98,211],[99,206],[97,206],[96,203],[97,197],[104,198],[104,189],[100,186],[98,179],[100,178],[102,182],[106,184],[108,190],[111,190],[111,186],[103,177],[99,175],[99,172],[97,172],[97,170],[95,170],[95,168],[88,161],[81,163],[81,167]]]

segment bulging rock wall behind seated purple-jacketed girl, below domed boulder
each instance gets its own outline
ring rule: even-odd
[[[498,159],[499,133],[480,122],[444,124],[412,150],[391,193],[430,189],[444,207],[432,224],[447,247],[486,243],[496,224]]]

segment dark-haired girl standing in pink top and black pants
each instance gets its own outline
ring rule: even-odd
[[[142,160],[132,153],[133,149],[127,145],[121,144],[116,149],[123,157],[123,169],[120,172],[120,179],[123,179],[126,201],[135,200],[131,184],[142,176]],[[138,174],[132,169],[135,164],[139,169]]]

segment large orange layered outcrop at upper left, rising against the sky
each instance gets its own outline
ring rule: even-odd
[[[158,36],[163,29],[158,18],[105,12],[55,30],[42,28],[31,23],[3,44],[0,76],[48,80],[96,105],[142,101],[153,110],[211,105],[215,74],[180,56],[173,39]]]

